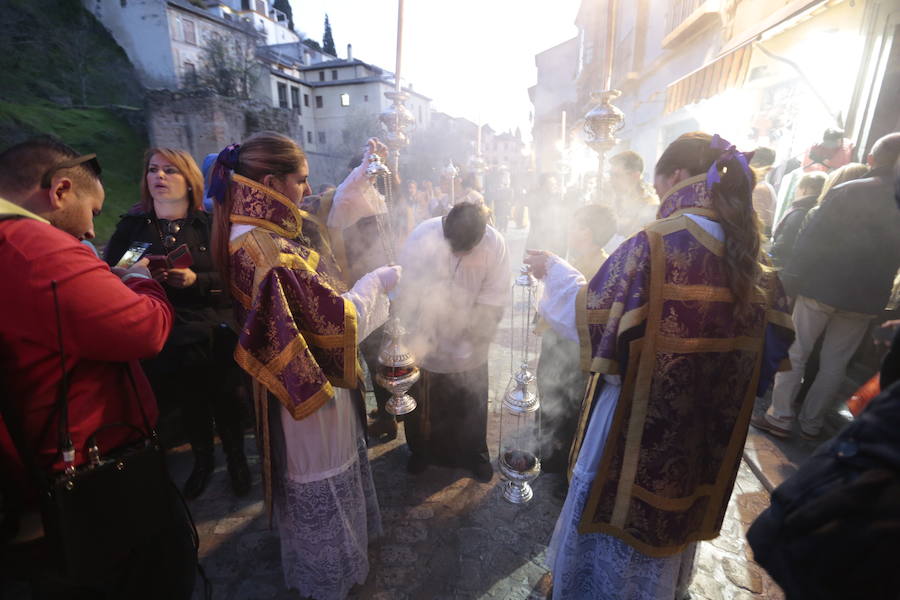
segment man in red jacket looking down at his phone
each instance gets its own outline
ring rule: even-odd
[[[54,411],[62,377],[60,329],[76,465],[87,459],[88,436],[104,425],[144,429],[142,410],[156,421],[156,401],[137,361],[159,353],[173,311],[145,265],[111,271],[80,243],[94,237],[93,218],[103,200],[93,155],[78,156],[50,138],[0,153],[0,402],[6,418],[0,420],[0,477],[7,507],[15,496],[33,504],[35,493],[10,431],[18,432],[36,467],[62,468]],[[100,432],[99,447],[128,441],[125,429]],[[39,526],[29,530],[27,518],[18,529],[8,548],[40,536]]]

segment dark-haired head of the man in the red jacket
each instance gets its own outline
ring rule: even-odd
[[[94,237],[104,191],[96,160],[52,137],[16,144],[0,153],[0,197],[47,219],[78,239]]]

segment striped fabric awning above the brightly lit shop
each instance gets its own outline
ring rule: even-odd
[[[669,84],[666,88],[666,114],[743,84],[752,52],[752,43],[744,44]]]

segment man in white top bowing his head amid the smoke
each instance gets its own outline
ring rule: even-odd
[[[506,242],[483,206],[460,203],[413,230],[400,264],[399,314],[422,372],[410,390],[419,406],[404,419],[407,469],[463,467],[490,481],[487,359],[510,297]]]

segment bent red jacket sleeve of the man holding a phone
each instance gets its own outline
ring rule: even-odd
[[[142,278],[122,283],[84,244],[62,231],[44,229],[39,233],[44,242],[55,238],[51,243],[42,244],[41,251],[31,245],[22,249],[30,289],[18,294],[18,314],[55,333],[53,296],[47,293],[55,280],[67,354],[116,362],[158,354],[174,318],[162,286]]]

